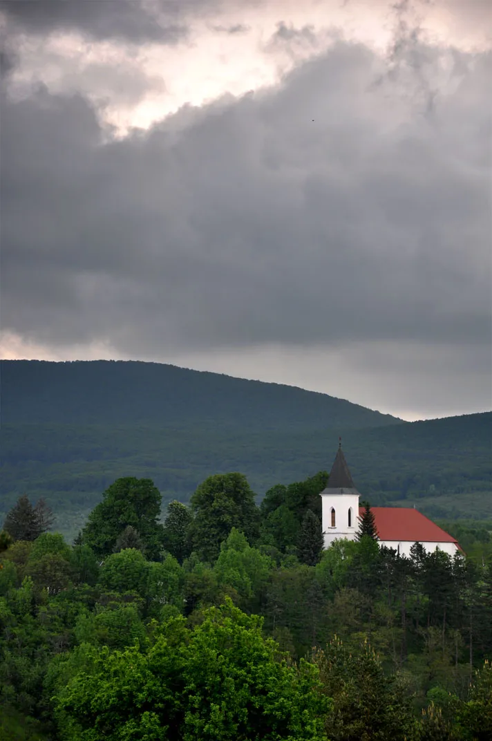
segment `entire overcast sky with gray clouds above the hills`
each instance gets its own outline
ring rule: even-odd
[[[0,1],[1,356],[491,408],[489,0]]]

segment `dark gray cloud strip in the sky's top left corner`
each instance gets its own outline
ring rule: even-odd
[[[170,17],[159,19],[156,6],[139,0],[2,0],[0,12],[13,29],[27,33],[77,30],[93,39],[124,39],[174,43],[187,33],[176,4]]]

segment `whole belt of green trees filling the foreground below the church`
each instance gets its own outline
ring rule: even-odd
[[[491,563],[381,549],[370,508],[358,542],[322,551],[326,481],[257,507],[245,476],[210,476],[162,524],[153,482],[118,479],[73,546],[24,497],[0,536],[0,724],[53,741],[490,739]]]

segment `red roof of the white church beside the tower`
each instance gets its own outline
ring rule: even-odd
[[[453,536],[439,528],[416,509],[371,507],[380,540],[416,540],[419,542],[456,543]],[[364,507],[359,507],[359,515]]]

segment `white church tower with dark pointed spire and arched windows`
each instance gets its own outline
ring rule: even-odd
[[[322,531],[325,548],[336,538],[354,540],[359,530],[359,492],[348,470],[342,451],[342,439],[328,479],[322,491]]]

